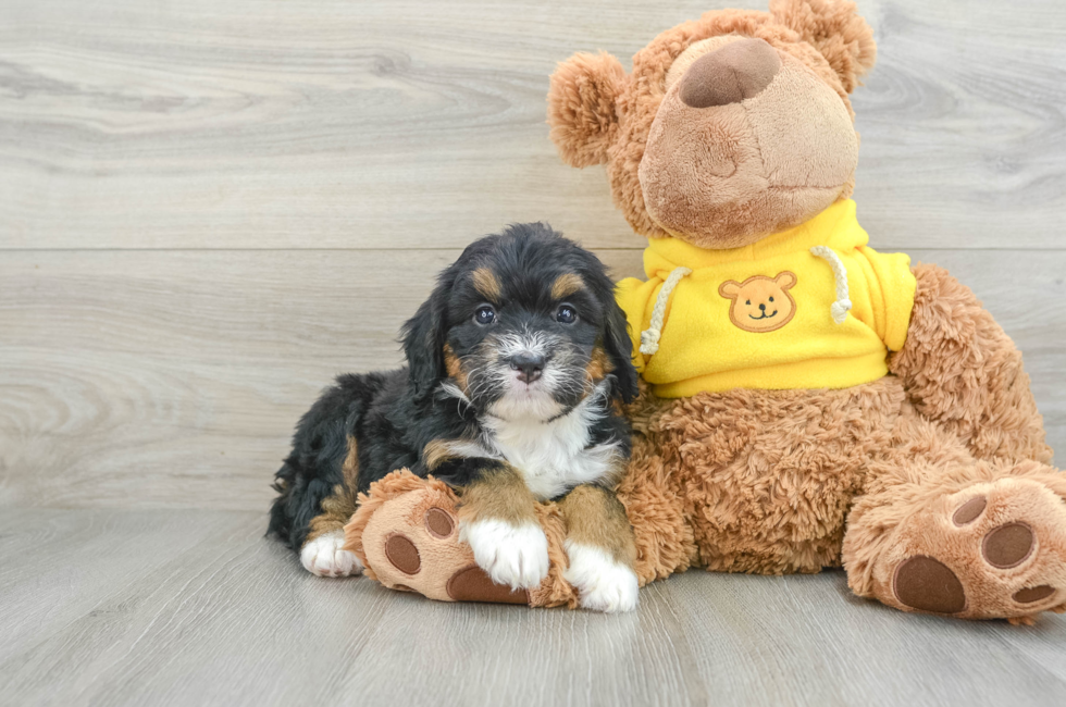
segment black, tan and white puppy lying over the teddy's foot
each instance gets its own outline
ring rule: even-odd
[[[407,368],[343,375],[303,415],[277,472],[270,531],[315,574],[342,549],[355,495],[409,468],[458,488],[460,538],[493,580],[537,586],[534,501],[561,499],[567,579],[582,606],[636,606],[635,546],[612,488],[636,394],[625,319],[599,260],[543,224],[467,248],[404,330]]]

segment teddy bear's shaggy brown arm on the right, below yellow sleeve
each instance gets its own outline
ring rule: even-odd
[[[918,264],[914,310],[889,370],[926,418],[953,429],[979,459],[1051,460],[1021,352],[974,293]]]

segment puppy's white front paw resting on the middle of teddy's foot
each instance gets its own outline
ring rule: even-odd
[[[459,539],[496,584],[532,590],[548,575],[548,538],[536,523],[513,525],[489,518],[459,524]]]

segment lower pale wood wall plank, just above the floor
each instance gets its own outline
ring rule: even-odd
[[[617,276],[640,274],[639,251],[599,255]],[[1066,251],[912,255],[983,298],[1066,448]],[[399,364],[400,324],[457,256],[7,253],[0,505],[264,508],[319,390]]]

